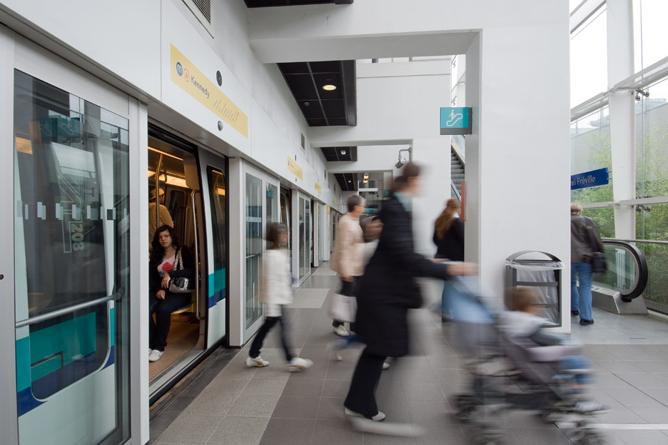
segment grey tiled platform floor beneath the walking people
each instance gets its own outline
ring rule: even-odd
[[[248,369],[248,349],[228,350],[151,421],[151,443],[236,445],[422,445],[467,444],[475,428],[452,416],[454,396],[467,390],[470,375],[450,346],[440,319],[413,311],[413,352],[383,371],[378,404],[388,421],[422,426],[417,437],[390,437],[350,428],[343,398],[360,348],[330,353],[336,338],[323,309],[335,274],[320,267],[295,294],[286,311],[290,340],[299,355],[314,362],[300,373],[285,369],[276,332],[265,341],[266,368]],[[643,316],[615,316],[594,309],[593,326],[573,326],[594,363],[595,398],[612,408],[593,420],[607,444],[668,444],[668,324]],[[220,363],[219,363],[220,361]],[[228,363],[226,362],[228,361]],[[504,412],[508,444],[571,444],[572,431],[544,424],[535,413]],[[619,424],[622,424],[621,426]],[[660,425],[658,426],[661,427]],[[665,427],[665,425],[664,425]],[[623,429],[647,428],[647,429]]]

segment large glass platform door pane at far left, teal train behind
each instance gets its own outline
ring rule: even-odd
[[[105,394],[125,409],[128,120],[21,71],[14,82],[19,416],[109,366]]]

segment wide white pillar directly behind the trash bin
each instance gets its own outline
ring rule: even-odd
[[[561,259],[562,326],[570,331],[570,104],[567,2],[549,25],[486,28],[466,54],[465,258],[483,286],[505,289],[517,251]],[[497,69],[512,60],[512,70]],[[521,73],[532,73],[522,76]]]

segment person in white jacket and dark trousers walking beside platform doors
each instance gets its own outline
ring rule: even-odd
[[[264,305],[265,321],[255,336],[251,351],[246,358],[246,366],[269,366],[269,362],[260,357],[262,343],[269,330],[275,324],[280,325],[280,341],[285,350],[285,360],[289,371],[301,371],[313,364],[313,361],[295,357],[288,349],[283,322],[283,306],[293,302],[292,276],[288,269],[288,227],[285,224],[272,223],[267,230],[267,244],[270,246],[262,256],[262,284],[260,301]]]

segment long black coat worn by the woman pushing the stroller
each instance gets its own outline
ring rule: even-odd
[[[447,266],[434,264],[413,249],[411,216],[394,197],[380,211],[383,231],[358,291],[355,332],[370,354],[408,354],[408,309],[415,307],[416,276],[447,279]]]

